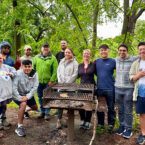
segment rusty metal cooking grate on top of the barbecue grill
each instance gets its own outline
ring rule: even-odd
[[[44,91],[45,100],[93,101],[93,84],[56,84]]]

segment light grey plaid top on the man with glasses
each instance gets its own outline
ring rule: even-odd
[[[116,58],[116,81],[117,88],[134,88],[133,82],[129,79],[129,71],[132,63],[138,57],[129,56],[126,59]]]

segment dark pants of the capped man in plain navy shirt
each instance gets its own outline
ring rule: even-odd
[[[115,92],[114,92],[114,90],[98,89],[97,96],[98,97],[105,97],[107,107],[108,107],[108,125],[114,126],[115,116],[116,116],[115,110],[114,110],[114,104],[115,104]],[[98,124],[104,125],[105,113],[104,112],[97,112],[97,116],[98,116]]]

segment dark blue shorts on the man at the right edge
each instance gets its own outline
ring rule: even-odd
[[[136,113],[145,114],[145,97],[140,97],[140,96],[137,97]]]

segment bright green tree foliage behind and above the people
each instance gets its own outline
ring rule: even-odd
[[[133,42],[133,46],[129,46],[130,53],[136,54],[136,44],[144,40],[145,27],[142,22],[136,25],[135,36],[121,35],[105,40],[96,37],[96,48],[92,48],[96,3],[99,3],[97,24],[117,21],[118,13],[121,13],[119,0],[17,0],[16,7],[13,7],[13,0],[3,0],[0,2],[0,41],[8,40],[15,47],[14,35],[20,34],[22,40],[19,51],[22,53],[23,46],[29,44],[35,55],[45,42],[50,43],[52,52],[56,54],[60,50],[60,40],[66,39],[81,62],[82,51],[86,48],[92,50],[93,59],[99,57],[97,48],[103,43],[110,46],[110,56],[116,57],[118,45],[127,37]],[[133,5],[132,10],[137,6],[139,3]],[[15,25],[16,21],[20,25]]]

